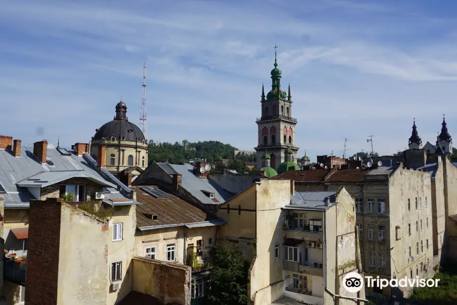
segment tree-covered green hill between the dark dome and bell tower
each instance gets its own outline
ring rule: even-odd
[[[224,144],[219,141],[199,141],[196,143],[183,140],[181,143],[174,144],[154,143],[149,141],[149,162],[170,162],[172,164],[182,164],[189,159],[206,159],[213,163],[220,159],[232,159],[235,146]]]

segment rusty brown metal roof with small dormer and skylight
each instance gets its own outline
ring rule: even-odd
[[[140,186],[135,187],[137,200],[142,205],[137,207],[137,227],[151,227],[163,225],[185,225],[204,221],[216,220],[207,216],[204,211],[192,204],[169,194],[170,197],[156,198],[143,191]],[[157,215],[153,220],[152,216]]]

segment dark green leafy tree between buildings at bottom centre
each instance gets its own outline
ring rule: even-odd
[[[241,305],[247,303],[249,263],[231,242],[216,244],[214,266],[210,272],[209,305]]]

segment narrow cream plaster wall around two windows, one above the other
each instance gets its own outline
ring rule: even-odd
[[[122,284],[120,290],[111,290],[110,285],[106,286],[107,303],[114,304],[124,298],[132,290],[132,258],[135,248],[135,231],[137,227],[137,214],[135,205],[124,205],[114,207],[109,224],[108,236],[108,265],[107,272],[109,275],[108,284],[111,283],[111,264],[115,262],[122,263]],[[112,224],[122,223],[122,240],[113,241]]]

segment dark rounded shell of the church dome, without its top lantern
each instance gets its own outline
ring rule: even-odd
[[[113,119],[112,121],[104,124],[100,129],[96,130],[93,140],[101,140],[102,138],[110,139],[115,137],[116,140],[124,141],[143,141],[143,133],[140,128],[125,119]]]

